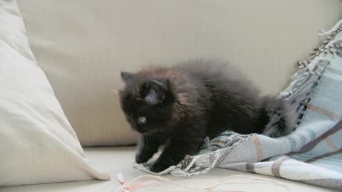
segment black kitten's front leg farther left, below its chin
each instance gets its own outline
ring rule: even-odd
[[[135,155],[135,161],[138,164],[145,163],[158,151],[159,146],[159,139],[142,134],[138,142],[138,153]]]

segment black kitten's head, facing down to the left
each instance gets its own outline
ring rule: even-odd
[[[130,126],[142,134],[170,131],[175,124],[170,81],[125,72],[121,79],[125,88],[119,92],[120,104]]]

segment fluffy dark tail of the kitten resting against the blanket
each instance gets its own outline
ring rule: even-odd
[[[268,123],[262,134],[268,137],[282,137],[294,131],[296,113],[288,102],[275,97],[264,97],[263,108]]]

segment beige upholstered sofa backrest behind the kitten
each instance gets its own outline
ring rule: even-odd
[[[120,70],[222,58],[263,93],[285,87],[340,0],[19,0],[33,53],[83,146],[135,142]]]

